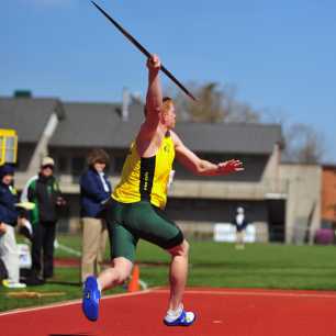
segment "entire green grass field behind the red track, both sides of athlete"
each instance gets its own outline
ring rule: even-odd
[[[79,237],[60,236],[58,240],[80,250]],[[56,258],[74,256],[57,249]],[[141,278],[149,287],[167,285],[169,257],[166,253],[150,244],[141,243],[137,262],[141,264]],[[254,244],[247,245],[244,250],[236,250],[232,244],[191,242],[188,281],[191,287],[336,290],[335,279],[334,246]],[[0,288],[0,311],[80,298],[79,269],[57,268],[49,283],[27,290],[66,294],[53,299],[18,300],[7,298],[9,290]],[[120,287],[113,290],[120,291],[125,289]]]

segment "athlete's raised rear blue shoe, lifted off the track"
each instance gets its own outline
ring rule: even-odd
[[[88,277],[85,287],[81,309],[87,318],[97,321],[99,316],[100,290],[98,289],[97,279],[92,276]]]

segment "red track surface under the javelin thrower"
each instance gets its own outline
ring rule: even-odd
[[[101,301],[98,322],[80,303],[0,314],[1,336],[335,336],[336,293],[314,291],[189,289],[184,304],[198,314],[191,327],[166,327],[167,290]]]

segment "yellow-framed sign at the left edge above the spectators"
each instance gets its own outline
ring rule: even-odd
[[[0,166],[15,164],[18,159],[18,135],[14,130],[0,128]]]

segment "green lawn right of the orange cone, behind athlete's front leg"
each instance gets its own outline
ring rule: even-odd
[[[138,249],[139,261],[168,261],[148,244]],[[189,285],[336,290],[334,246],[247,245],[192,242]],[[167,283],[167,267],[142,267],[149,285]]]

